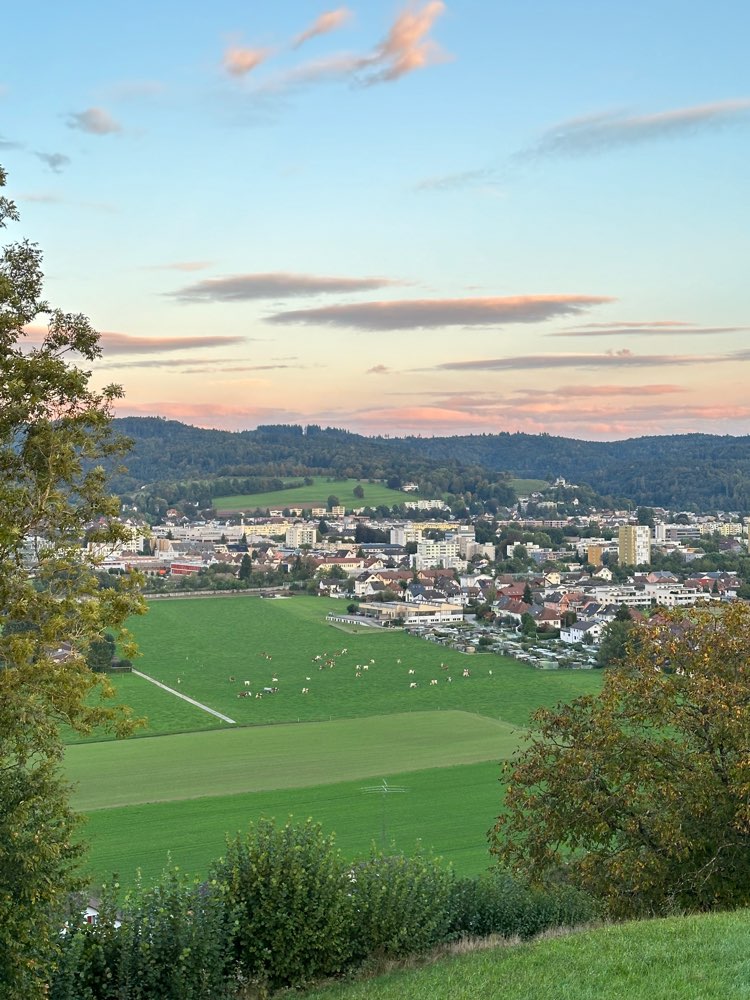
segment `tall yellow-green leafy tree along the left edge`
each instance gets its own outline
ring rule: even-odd
[[[0,188],[5,173],[0,169]],[[17,220],[0,197],[0,226]],[[80,853],[67,785],[58,772],[60,723],[132,728],[102,703],[112,689],[86,663],[106,628],[122,639],[142,610],[124,574],[99,588],[93,549],[129,536],[106,491],[103,461],[126,442],[112,434],[117,386],[94,390],[85,363],[100,354],[85,317],[42,299],[41,253],[31,243],[0,251],[0,997],[35,1000],[59,942],[55,909],[76,884]],[[40,343],[24,330],[46,317]],[[33,578],[25,563],[34,540]],[[19,629],[18,623],[24,623]],[[128,651],[127,644],[125,645]],[[62,651],[62,652],[58,652]]]

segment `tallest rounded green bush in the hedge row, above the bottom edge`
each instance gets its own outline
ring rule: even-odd
[[[348,869],[318,824],[260,820],[212,870],[236,914],[241,975],[272,989],[330,976],[351,955]]]

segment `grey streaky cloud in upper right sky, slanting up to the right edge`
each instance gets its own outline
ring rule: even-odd
[[[571,118],[547,129],[522,156],[586,156],[618,146],[677,138],[748,121],[750,98],[698,104],[650,115],[607,111]]]

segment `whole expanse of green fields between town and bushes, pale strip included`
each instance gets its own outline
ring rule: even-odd
[[[352,857],[383,839],[385,823],[400,850],[421,841],[458,871],[487,866],[498,762],[535,708],[596,691],[599,675],[537,671],[397,630],[345,633],[325,621],[340,607],[163,600],[131,622],[136,669],[235,724],[135,674],[116,679],[119,699],[148,717],[140,738],[90,738],[66,754],[95,882],[116,871],[130,884],[137,869],[151,878],[168,857],[205,872],[227,834],[269,814],[312,816]],[[385,802],[363,791],[383,779],[407,791]]]

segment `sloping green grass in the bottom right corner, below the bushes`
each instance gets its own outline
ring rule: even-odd
[[[744,1000],[750,914],[603,927],[444,959],[306,1000]]]

